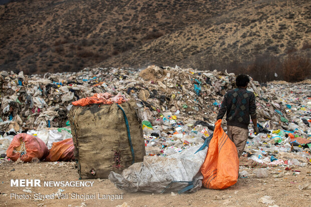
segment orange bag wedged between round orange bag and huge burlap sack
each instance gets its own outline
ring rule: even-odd
[[[74,150],[72,138],[59,142],[53,142],[50,153],[45,159],[46,161],[70,161],[74,160]]]

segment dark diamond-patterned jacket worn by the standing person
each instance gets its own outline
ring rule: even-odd
[[[226,114],[227,125],[248,129],[249,116],[256,118],[256,101],[253,92],[245,88],[228,91],[219,109],[217,120]]]

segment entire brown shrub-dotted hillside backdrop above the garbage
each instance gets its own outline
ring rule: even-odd
[[[0,70],[226,69],[310,57],[309,1],[17,1],[0,6]]]

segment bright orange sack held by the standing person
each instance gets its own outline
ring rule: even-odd
[[[239,158],[235,144],[221,128],[221,119],[216,121],[214,135],[209,144],[201,172],[203,186],[224,189],[238,180]]]

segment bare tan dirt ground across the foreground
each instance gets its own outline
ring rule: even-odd
[[[311,189],[298,188],[299,185],[311,182],[311,165],[294,167],[285,170],[284,166],[269,168],[267,178],[257,178],[256,170],[240,167],[240,172],[246,170],[248,177],[239,178],[238,182],[224,190],[202,188],[195,193],[172,195],[150,192],[127,192],[117,189],[108,179],[90,179],[92,187],[11,187],[11,179],[40,179],[44,181],[76,181],[78,172],[74,162],[40,162],[0,164],[0,206],[117,206],[124,202],[128,206],[311,206]],[[292,170],[300,171],[294,172]],[[34,193],[52,194],[58,189],[68,193],[64,199],[35,199]],[[25,191],[31,192],[25,192]],[[29,199],[17,199],[11,193],[29,194]],[[74,199],[73,193],[96,194],[95,199]],[[121,194],[123,199],[98,199],[105,194]],[[11,195],[13,197],[11,197]],[[269,195],[273,204],[263,204],[260,198]],[[105,197],[104,197],[105,198]],[[126,206],[126,205],[125,205]]]

